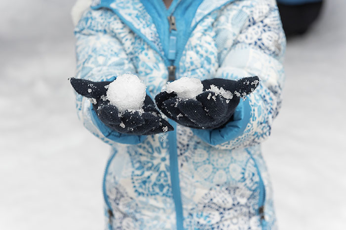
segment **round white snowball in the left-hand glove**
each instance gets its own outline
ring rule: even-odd
[[[140,110],[146,96],[145,85],[136,75],[123,74],[107,87],[107,99],[119,112]]]

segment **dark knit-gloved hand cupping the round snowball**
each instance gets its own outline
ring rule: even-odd
[[[98,118],[115,131],[133,135],[151,135],[174,130],[162,118],[160,112],[155,108],[155,103],[148,95],[146,95],[142,107],[144,112],[126,111],[120,114],[118,108],[105,98],[107,92],[105,86],[109,85],[111,81],[93,82],[71,78],[70,82],[78,94],[91,99]]]

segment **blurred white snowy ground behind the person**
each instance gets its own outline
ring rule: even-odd
[[[345,0],[287,47],[263,144],[281,230],[346,229]],[[71,0],[0,1],[0,230],[103,227],[108,146],[75,114]]]

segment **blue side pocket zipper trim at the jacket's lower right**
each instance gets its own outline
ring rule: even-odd
[[[264,217],[264,203],[265,203],[265,187],[264,187],[264,183],[262,180],[262,176],[260,174],[259,171],[259,166],[254,158],[254,156],[251,154],[251,152],[249,150],[246,150],[247,153],[249,154],[250,158],[254,161],[256,170],[257,170],[257,174],[259,175],[259,201],[258,201],[258,215],[260,218],[260,224],[262,227],[262,230],[267,230],[267,223],[265,221],[265,217]]]

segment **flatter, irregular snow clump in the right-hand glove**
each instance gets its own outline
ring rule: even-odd
[[[168,82],[166,85],[166,92],[175,92],[178,98],[191,99],[203,92],[203,85],[198,78],[182,77],[173,82]]]

